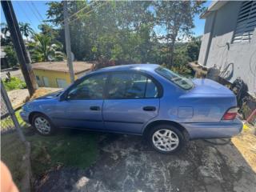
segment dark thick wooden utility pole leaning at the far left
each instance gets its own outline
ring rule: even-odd
[[[6,22],[10,30],[10,38],[14,44],[18,62],[21,66],[22,74],[24,76],[26,86],[29,90],[30,96],[34,94],[38,85],[34,78],[34,73],[30,65],[30,58],[26,52],[26,46],[24,44],[22,34],[18,27],[17,18],[14,13],[14,8],[10,1],[1,1],[2,10],[6,17]]]

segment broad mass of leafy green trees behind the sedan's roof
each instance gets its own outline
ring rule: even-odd
[[[58,41],[65,44],[62,2],[47,4],[47,21],[57,29]],[[68,11],[71,50],[78,60],[170,66],[174,54],[175,62],[181,55],[190,54],[179,63],[197,57],[191,55],[197,46],[178,51],[174,47],[178,40],[190,39],[194,14],[202,11],[202,2],[70,1]],[[156,27],[163,32],[157,33]]]

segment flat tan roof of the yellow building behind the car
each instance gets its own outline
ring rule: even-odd
[[[94,62],[73,62],[74,74],[91,70]],[[59,72],[69,72],[67,62],[36,62],[32,64],[32,68],[36,70],[53,70]]]

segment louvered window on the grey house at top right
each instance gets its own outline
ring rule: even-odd
[[[237,26],[234,30],[233,41],[250,42],[256,27],[256,2],[242,2],[240,12],[238,14]]]

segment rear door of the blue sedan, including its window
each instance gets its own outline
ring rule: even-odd
[[[146,74],[110,74],[103,104],[106,129],[141,134],[142,126],[158,115],[158,91],[155,81]]]

